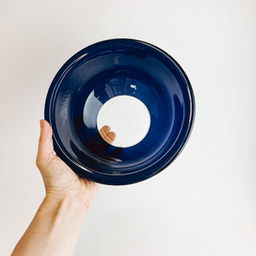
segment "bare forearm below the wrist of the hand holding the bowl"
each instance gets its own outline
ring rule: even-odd
[[[77,198],[46,196],[12,256],[72,255],[85,213]]]

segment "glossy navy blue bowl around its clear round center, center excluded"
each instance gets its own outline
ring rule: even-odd
[[[136,97],[150,114],[147,135],[131,147],[107,143],[97,128],[102,105],[115,96]],[[90,124],[84,122],[86,102]],[[154,176],[177,157],[193,126],[195,98],[183,69],[165,51],[111,39],[80,50],[61,67],[49,87],[44,118],[52,126],[56,154],[74,172],[122,185]]]

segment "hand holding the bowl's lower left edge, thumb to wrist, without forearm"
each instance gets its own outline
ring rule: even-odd
[[[86,211],[99,189],[99,184],[79,177],[55,153],[52,129],[45,120],[40,120],[40,138],[36,164],[44,179],[46,197],[61,200],[72,197],[82,202]]]

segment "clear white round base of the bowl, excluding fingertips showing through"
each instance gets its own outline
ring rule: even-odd
[[[115,133],[115,138],[111,143],[113,146],[131,147],[140,143],[147,135],[150,114],[144,103],[136,97],[115,96],[103,104],[97,115],[98,130],[101,131],[106,125],[110,132]]]

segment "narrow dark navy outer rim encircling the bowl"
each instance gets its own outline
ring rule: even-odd
[[[79,61],[84,54],[90,52],[90,49],[95,49],[98,46],[101,46],[102,44],[109,44],[109,43],[120,43],[120,42],[131,42],[131,44],[137,42],[139,44],[146,44],[149,47],[152,47],[159,51],[161,54],[166,55],[166,57],[172,61],[173,64],[177,67],[178,71],[183,75],[183,79],[186,82],[187,89],[189,92],[189,102],[190,102],[190,113],[189,113],[189,125],[187,129],[185,130],[185,136],[183,137],[183,140],[180,144],[178,144],[178,148],[175,151],[175,154],[172,154],[172,157],[169,158],[164,165],[160,165],[159,168],[156,168],[154,172],[150,173],[142,173],[140,171],[134,173],[127,173],[125,175],[121,176],[113,176],[108,173],[106,174],[99,174],[95,172],[90,172],[90,170],[86,170],[84,166],[78,166],[76,162],[74,162],[70,157],[65,154],[63,149],[61,148],[58,139],[55,137],[55,133],[53,132],[53,144],[54,144],[54,149],[55,153],[61,158],[61,160],[64,160],[66,162],[67,166],[70,166],[73,172],[76,172],[79,177],[84,177],[86,179],[89,179],[91,181],[94,181],[96,183],[103,183],[103,184],[108,184],[108,185],[125,185],[125,184],[131,184],[131,183],[138,183],[141,182],[145,179],[148,179],[149,177],[153,177],[157,173],[163,171],[167,166],[169,166],[173,160],[177,158],[177,156],[182,152],[183,148],[185,147],[186,143],[189,141],[189,137],[191,135],[191,131],[193,129],[194,123],[195,123],[195,95],[194,91],[192,89],[192,86],[189,82],[189,78],[187,74],[183,71],[183,68],[177,63],[177,61],[166,51],[163,49],[160,49],[159,47],[155,46],[154,44],[149,44],[148,42],[138,40],[138,39],[132,39],[132,38],[112,38],[112,39],[107,39],[107,40],[102,40],[100,42],[97,42],[95,44],[90,44],[89,46],[85,47],[84,49],[79,50],[76,54],[71,56],[59,69],[59,71],[55,74],[54,79],[52,80],[49,90],[47,92],[46,100],[45,100],[45,105],[44,105],[44,119],[46,119],[49,122],[49,125],[53,125],[54,120],[51,118],[51,104],[53,102],[53,96],[55,95],[55,90],[58,89],[59,86],[57,86],[59,79],[68,72],[69,67],[71,67],[76,61]],[[163,156],[164,157],[164,156]],[[161,157],[161,159],[163,159]],[[162,160],[160,161],[162,162]],[[154,167],[153,167],[154,168]],[[82,170],[83,169],[83,170]],[[148,166],[147,166],[148,170]],[[86,174],[84,173],[86,172]],[[114,177],[114,180],[113,180]]]

